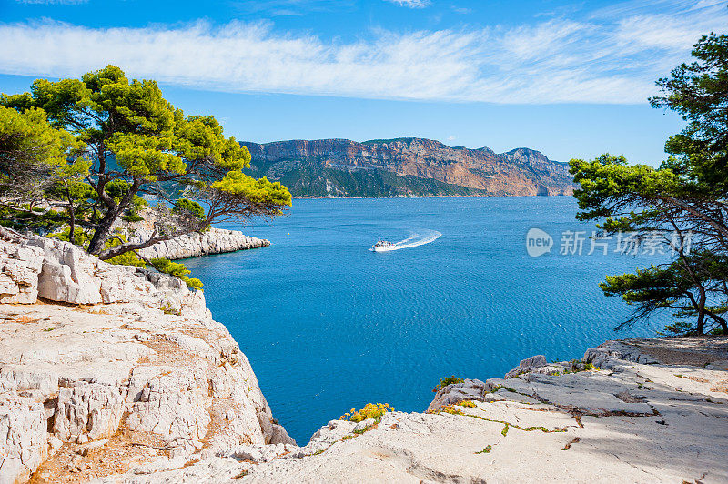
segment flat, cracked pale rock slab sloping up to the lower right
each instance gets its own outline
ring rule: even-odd
[[[100,482],[725,482],[726,369],[726,338],[610,341],[441,388],[428,413],[333,420],[303,448],[159,459]]]

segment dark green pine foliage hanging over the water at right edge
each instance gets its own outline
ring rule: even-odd
[[[581,185],[577,218],[598,221],[606,234],[632,232],[641,243],[657,237],[671,247],[672,260],[600,284],[635,308],[619,328],[668,309],[678,319],[668,331],[728,332],[728,36],[703,36],[693,57],[660,79],[664,96],[651,99],[688,122],[667,141],[672,156],[661,166],[628,165],[624,156],[571,160]]]

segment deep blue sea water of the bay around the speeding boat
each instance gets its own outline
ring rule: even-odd
[[[287,217],[238,227],[271,247],[187,260],[207,305],[299,443],[367,402],[423,411],[439,378],[502,377],[522,358],[581,358],[628,314],[597,287],[645,259],[559,255],[571,197],[295,200]],[[232,228],[232,226],[230,226]],[[529,257],[532,227],[554,237]],[[419,247],[373,253],[420,234]],[[418,238],[414,240],[416,241]],[[431,237],[430,237],[431,238]],[[612,250],[616,246],[610,247]]]

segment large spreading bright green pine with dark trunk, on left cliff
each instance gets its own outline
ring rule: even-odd
[[[30,141],[18,144],[16,138]],[[65,202],[71,233],[76,221],[89,229],[88,252],[105,260],[214,222],[273,217],[291,203],[279,183],[243,175],[250,153],[224,136],[215,117],[185,116],[155,81],[128,79],[116,66],[80,79],[37,79],[29,93],[0,96],[0,144],[5,141],[13,142],[8,146],[14,155],[0,158],[0,185],[11,168],[19,173],[17,167],[29,163],[43,166],[45,173],[50,171],[42,163],[46,158],[57,162],[63,190],[47,195]],[[61,168],[70,155],[76,161]],[[69,193],[82,180],[93,187],[94,197]],[[149,240],[106,244],[118,217],[144,216],[140,196],[171,201],[168,193],[183,189],[205,202],[209,217],[199,217],[201,207],[190,202],[192,210],[182,210],[184,215],[166,211],[157,217]],[[86,201],[93,205],[90,215]]]

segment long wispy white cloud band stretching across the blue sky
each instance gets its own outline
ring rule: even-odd
[[[115,64],[129,76],[227,92],[493,103],[642,103],[693,43],[728,25],[723,5],[633,7],[579,21],[397,33],[344,42],[232,22],[89,28],[0,24],[0,72],[79,76]]]

